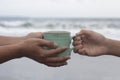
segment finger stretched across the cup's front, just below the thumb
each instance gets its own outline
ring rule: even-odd
[[[56,56],[62,52],[67,50],[67,47],[57,48],[57,49],[51,49],[44,51],[44,57],[50,57],[50,56]]]

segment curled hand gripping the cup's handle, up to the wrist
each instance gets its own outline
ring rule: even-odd
[[[73,42],[75,53],[100,56],[108,52],[107,38],[103,35],[91,30],[81,30],[76,36]]]

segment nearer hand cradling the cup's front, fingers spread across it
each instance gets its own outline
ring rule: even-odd
[[[52,48],[46,50],[44,47]],[[59,67],[67,64],[67,57],[57,57],[61,52],[64,52],[67,48],[56,48],[57,45],[53,42],[43,39],[28,39],[18,44],[19,54],[31,58],[39,63],[43,63],[51,67]]]

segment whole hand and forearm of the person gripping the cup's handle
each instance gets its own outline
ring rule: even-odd
[[[120,41],[106,38],[91,30],[81,30],[76,34],[74,52],[86,56],[114,55],[120,56]]]

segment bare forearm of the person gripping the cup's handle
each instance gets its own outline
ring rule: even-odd
[[[120,41],[108,39],[108,54],[120,57]]]

